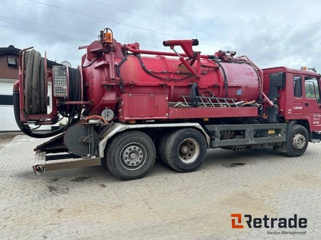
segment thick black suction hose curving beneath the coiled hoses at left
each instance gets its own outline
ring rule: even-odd
[[[30,127],[28,125],[24,125],[20,122],[20,98],[19,98],[19,92],[18,91],[13,91],[13,112],[14,112],[14,118],[16,120],[16,123],[20,130],[33,138],[49,138],[53,137],[59,133],[64,132],[64,128],[59,128],[53,132],[48,132],[48,133],[34,133],[31,131]]]

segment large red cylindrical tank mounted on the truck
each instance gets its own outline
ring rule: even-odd
[[[88,58],[88,53],[87,53]],[[228,93],[224,84],[224,72],[222,68],[201,68],[201,78],[196,79],[190,75],[187,68],[175,57],[165,56],[141,56],[127,55],[127,60],[120,66],[120,75],[125,84],[125,93],[129,94],[165,94],[169,96],[169,102],[183,101],[182,95],[189,96],[190,86],[197,83],[199,93],[204,96],[228,97],[237,100],[257,100],[260,94],[259,80],[256,70],[246,63],[221,62],[221,66],[227,77]],[[84,79],[84,100],[93,100],[89,106],[91,114],[99,114],[105,108],[116,110],[117,97],[122,93],[117,81],[109,81],[109,65],[104,64],[105,57],[99,58],[89,56],[83,57],[83,65],[90,66],[82,68]],[[115,64],[123,60],[120,48],[115,52]],[[100,64],[99,64],[100,62]],[[102,64],[101,64],[102,63]],[[145,67],[145,70],[143,67]],[[213,65],[209,59],[202,60],[202,64]],[[194,64],[196,65],[196,64]],[[196,70],[196,66],[193,68]],[[150,73],[146,72],[151,71]],[[152,76],[152,75],[153,76]],[[118,74],[116,73],[117,77]],[[108,101],[103,101],[104,95]],[[108,94],[110,97],[108,98]],[[114,98],[112,95],[116,95]],[[105,98],[106,99],[106,98]]]

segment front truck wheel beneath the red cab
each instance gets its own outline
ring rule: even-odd
[[[309,133],[307,129],[299,124],[294,124],[289,132],[289,140],[286,142],[287,156],[301,156],[308,148]]]

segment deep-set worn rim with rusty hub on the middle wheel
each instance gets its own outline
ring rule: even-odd
[[[200,153],[200,145],[193,138],[184,139],[178,148],[179,159],[186,164],[194,163]]]

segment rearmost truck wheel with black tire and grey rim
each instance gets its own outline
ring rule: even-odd
[[[129,158],[130,155],[133,156],[132,159]],[[128,159],[125,160],[126,156]],[[106,163],[109,171],[123,180],[143,177],[152,169],[155,157],[156,149],[152,139],[139,131],[118,135],[106,149]]]

